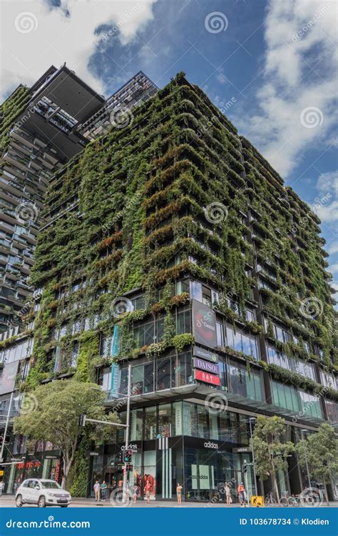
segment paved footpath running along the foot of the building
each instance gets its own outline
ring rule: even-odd
[[[327,507],[326,502],[321,505],[322,507]],[[0,497],[0,508],[5,507],[16,507],[14,502],[14,495],[2,495]],[[24,505],[24,508],[35,508],[36,505]],[[71,502],[71,505],[69,506],[71,508],[126,508],[127,506],[123,505],[114,505],[111,504],[111,502],[95,502],[93,499],[86,499],[83,497],[73,497],[73,500]],[[239,504],[232,504],[230,506],[226,506],[224,503],[217,502],[217,504],[212,504],[212,502],[183,502],[182,505],[178,505],[177,502],[174,501],[150,501],[150,505],[147,504],[145,500],[138,500],[135,505],[130,501],[128,504],[128,508],[239,508]],[[309,508],[314,508],[312,506],[308,506]],[[338,502],[330,502],[329,507],[338,507]],[[48,507],[52,508],[52,507]],[[58,508],[58,507],[53,507]],[[290,508],[292,508],[290,506]]]

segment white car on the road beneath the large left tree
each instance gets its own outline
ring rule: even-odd
[[[24,480],[15,494],[17,507],[22,505],[61,506],[66,508],[71,503],[71,494],[63,490],[61,485],[54,480],[41,478],[29,478]]]

